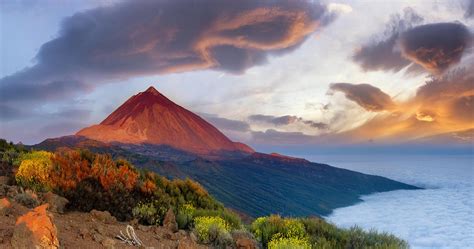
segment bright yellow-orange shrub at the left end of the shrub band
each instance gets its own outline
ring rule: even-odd
[[[37,191],[50,189],[52,156],[53,154],[47,151],[33,151],[21,155],[20,167],[15,176],[18,184]]]

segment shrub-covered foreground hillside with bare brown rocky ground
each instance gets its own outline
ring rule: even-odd
[[[106,154],[30,151],[0,139],[0,158],[1,248],[408,248],[393,235],[316,217],[242,224],[198,183]]]

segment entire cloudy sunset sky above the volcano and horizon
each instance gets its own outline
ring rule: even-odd
[[[0,137],[154,86],[257,148],[472,147],[474,1],[0,0]]]

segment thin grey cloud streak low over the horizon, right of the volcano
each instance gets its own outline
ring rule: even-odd
[[[327,124],[325,123],[315,122],[312,120],[305,120],[301,117],[297,117],[293,115],[272,116],[272,115],[255,114],[255,115],[250,115],[248,119],[252,122],[266,123],[266,124],[271,124],[275,126],[285,126],[285,125],[290,125],[293,123],[302,123],[311,128],[317,128],[317,129],[328,128]]]

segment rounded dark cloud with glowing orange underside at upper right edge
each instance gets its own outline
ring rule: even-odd
[[[405,58],[440,74],[461,61],[471,34],[461,23],[434,23],[415,27],[400,37]]]

